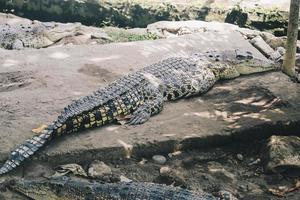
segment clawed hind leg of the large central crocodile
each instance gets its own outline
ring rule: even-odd
[[[128,121],[130,125],[143,124],[152,115],[158,114],[163,109],[163,95],[158,88],[147,86],[143,92],[144,102],[132,114]]]

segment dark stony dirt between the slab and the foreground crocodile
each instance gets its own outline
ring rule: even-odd
[[[151,157],[136,157],[106,162],[112,175],[91,181],[119,181],[123,176],[133,181],[155,182],[166,185],[205,191],[217,195],[220,190],[230,191],[241,200],[298,200],[300,190],[279,197],[269,189],[292,188],[299,180],[299,171],[285,174],[268,174],[263,168],[265,140],[239,143],[199,150],[176,151],[165,154],[167,162],[156,164]],[[88,169],[90,163],[82,163]],[[53,170],[45,163],[29,169],[24,178],[50,176]],[[167,171],[167,172],[163,172]],[[38,175],[37,175],[38,174]],[[0,199],[25,200],[27,198],[7,191]]]

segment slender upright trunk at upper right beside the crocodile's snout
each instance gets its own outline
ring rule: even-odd
[[[295,56],[298,38],[300,0],[291,0],[290,16],[287,32],[286,53],[283,61],[283,72],[289,76],[295,76]]]

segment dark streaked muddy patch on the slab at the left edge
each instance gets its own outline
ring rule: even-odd
[[[33,72],[0,73],[0,92],[8,92],[26,87],[34,80]]]

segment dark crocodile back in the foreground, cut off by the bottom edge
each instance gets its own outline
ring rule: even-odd
[[[76,180],[68,177],[50,180],[13,180],[7,186],[10,190],[34,200],[234,200],[227,191],[217,196],[205,192],[193,192],[179,187],[155,183],[118,182],[101,183]]]

